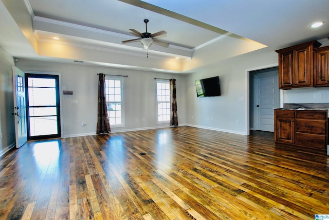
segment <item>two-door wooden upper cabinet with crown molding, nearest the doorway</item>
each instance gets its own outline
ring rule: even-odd
[[[312,41],[276,50],[279,54],[279,89],[313,86],[313,49],[320,45]]]

